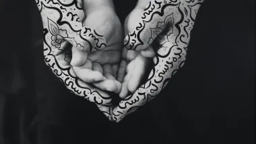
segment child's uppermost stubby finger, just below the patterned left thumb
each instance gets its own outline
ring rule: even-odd
[[[81,65],[84,65],[86,63],[88,56],[88,52],[84,50],[80,50],[78,48],[75,48],[75,46],[72,47],[72,59],[71,59],[71,65],[73,67],[79,67]]]

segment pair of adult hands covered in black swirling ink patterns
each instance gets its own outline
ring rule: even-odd
[[[43,23],[44,61],[71,93],[94,102],[109,120],[119,122],[156,98],[172,75],[183,67],[191,30],[202,3],[203,0],[150,1],[136,30],[125,38],[125,47],[143,50],[154,39],[158,40],[160,46],[153,59],[154,67],[146,83],[115,108],[109,94],[81,81],[70,65],[68,44],[88,52],[103,50],[106,46],[103,36],[79,20],[78,15],[84,13],[82,0],[36,0]],[[161,35],[166,28],[168,32]],[[85,49],[84,44],[89,44],[90,48]]]

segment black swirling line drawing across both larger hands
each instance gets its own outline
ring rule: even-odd
[[[49,5],[50,2],[52,6]],[[171,23],[170,26],[173,27],[173,32],[166,34],[166,36],[162,38],[163,42],[161,44],[162,47],[166,44],[169,45],[168,50],[162,52],[164,53],[164,55],[162,55],[159,53],[159,50],[162,50],[162,48],[158,49],[158,54],[154,58],[154,67],[152,68],[146,83],[140,85],[133,95],[128,96],[125,100],[119,102],[119,105],[114,109],[112,105],[113,100],[108,94],[92,87],[92,85],[83,83],[76,77],[71,67],[67,65],[67,63],[69,63],[69,52],[62,50],[65,55],[58,59],[52,53],[54,51],[53,48],[56,48],[56,46],[53,46],[51,43],[51,36],[57,36],[58,34],[61,36],[58,30],[64,29],[59,28],[58,26],[66,25],[66,28],[69,28],[70,30],[65,33],[67,36],[62,34],[63,38],[66,38],[68,42],[73,42],[73,44],[79,46],[77,40],[72,36],[72,34],[75,35],[75,33],[79,32],[79,38],[86,40],[86,38],[83,38],[82,36],[82,34],[86,34],[90,36],[90,38],[96,40],[96,46],[98,46],[98,49],[96,50],[100,50],[104,47],[104,42],[101,42],[102,40],[100,37],[102,36],[100,34],[97,34],[94,30],[86,28],[84,25],[80,24],[81,20],[79,20],[78,17],[77,19],[74,18],[77,14],[71,12],[71,10],[72,8],[81,10],[82,7],[79,7],[81,3],[77,0],[69,1],[69,3],[65,3],[61,0],[36,0],[36,4],[38,5],[42,19],[44,20],[43,42],[44,61],[46,65],[48,65],[49,69],[51,69],[51,71],[57,75],[59,80],[65,84],[69,89],[69,92],[76,94],[77,96],[83,96],[86,100],[94,102],[109,120],[119,122],[127,114],[134,112],[143,106],[143,104],[156,98],[159,92],[167,85],[172,75],[183,67],[187,54],[187,45],[189,44],[191,30],[193,29],[193,24],[195,22],[195,16],[197,15],[197,11],[202,4],[202,1],[190,0],[184,2],[176,0],[167,2],[155,0],[148,4],[148,7],[146,7],[142,15],[143,21],[139,23],[135,32],[128,35],[125,45],[130,44],[130,47],[134,49],[136,49],[137,46],[142,45],[143,41],[141,40],[141,34],[145,35],[143,31],[149,32],[148,30],[145,30],[146,24],[150,22],[158,22],[155,20],[156,17],[164,17],[162,20],[166,25],[169,22],[166,22],[166,20],[168,20],[168,15],[166,15],[165,11],[167,11],[167,14],[168,11],[172,11],[172,13],[175,13],[174,15],[177,16],[173,17],[173,20],[171,19],[173,23]],[[44,9],[49,9],[51,12],[46,15]],[[61,11],[61,9],[65,11]],[[57,17],[55,15],[57,15]],[[71,15],[71,18],[69,15]],[[54,26],[55,24],[53,24],[53,28],[49,28],[49,23],[44,23],[46,18],[53,21],[57,26]],[[79,26],[81,26],[80,29],[78,28]],[[187,30],[187,28],[189,29]],[[161,32],[162,30],[163,29],[161,29]],[[57,43],[60,43],[60,45],[57,44],[57,47],[61,48],[63,47],[61,44],[65,42],[65,40],[62,40],[62,37],[60,36],[59,38],[53,39]],[[170,36],[172,36],[172,38],[170,38]],[[80,44],[80,46],[82,45]],[[92,46],[90,50],[92,51]]]

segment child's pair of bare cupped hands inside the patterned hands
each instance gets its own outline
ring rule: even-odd
[[[138,3],[123,27],[111,6],[97,5],[93,10],[84,9],[86,19],[83,23],[104,36],[106,47],[96,52],[72,48],[71,65],[79,79],[102,90],[115,92],[120,98],[135,92],[155,52],[152,46],[145,50],[143,46],[139,50],[127,50],[129,46],[125,48],[123,39],[135,30],[148,2]]]

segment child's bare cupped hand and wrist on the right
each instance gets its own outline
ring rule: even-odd
[[[143,9],[141,8],[135,8],[129,13],[123,28],[125,36],[135,30],[141,20],[142,13]],[[127,48],[123,48],[123,60],[118,73],[118,80],[122,83],[120,98],[127,97],[129,92],[135,92],[154,56],[155,52],[152,46],[148,46],[145,50],[127,50]]]

